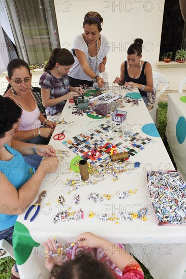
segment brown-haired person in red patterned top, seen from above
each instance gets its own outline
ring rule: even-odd
[[[64,253],[64,263],[60,256],[47,256],[45,266],[51,271],[50,278],[144,279],[141,266],[125,251],[123,245],[114,245],[90,232],[80,234],[78,240],[79,243]],[[46,253],[58,250],[54,239],[48,239],[44,245]],[[61,247],[60,243],[58,245]]]

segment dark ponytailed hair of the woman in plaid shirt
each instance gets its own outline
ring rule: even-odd
[[[53,69],[56,62],[59,63],[59,65],[69,66],[74,64],[74,56],[66,48],[55,48],[52,50],[48,63],[44,67],[44,71]]]

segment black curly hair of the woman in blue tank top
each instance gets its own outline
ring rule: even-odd
[[[0,96],[0,138],[12,129],[21,117],[22,110],[8,97]]]

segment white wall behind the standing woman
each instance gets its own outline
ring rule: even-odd
[[[106,72],[109,82],[120,74],[120,64],[126,60],[127,49],[134,39],[141,38],[142,59],[152,65],[155,72],[171,82],[170,90],[177,90],[185,77],[185,68],[157,68],[163,22],[164,0],[130,1],[59,1],[54,0],[60,46],[71,49],[74,38],[83,33],[83,18],[88,11],[97,11],[104,19],[102,33],[110,42]]]

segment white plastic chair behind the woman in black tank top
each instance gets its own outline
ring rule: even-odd
[[[160,82],[160,84],[159,84],[160,91],[157,92],[156,98],[155,98],[155,101],[153,104],[153,108],[149,111],[149,113],[150,113],[150,116],[151,116],[153,122],[158,127],[158,124],[159,124],[159,107],[158,107],[159,98],[163,94],[163,92],[169,87],[169,84],[167,82],[167,79],[162,74],[159,74],[157,72],[152,72],[152,76],[153,76],[153,79],[157,79]]]

